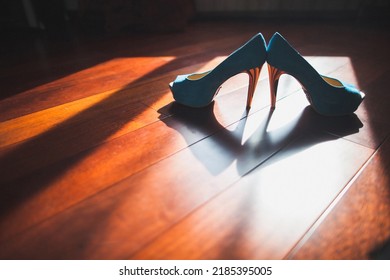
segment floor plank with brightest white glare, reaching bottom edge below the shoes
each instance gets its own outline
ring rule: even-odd
[[[133,258],[284,258],[371,153],[304,135]]]

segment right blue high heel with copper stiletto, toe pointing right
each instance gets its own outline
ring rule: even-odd
[[[364,99],[364,93],[355,86],[320,75],[279,33],[275,33],[268,44],[267,63],[272,108],[275,108],[282,74],[289,74],[298,80],[309,103],[321,115],[351,114]]]

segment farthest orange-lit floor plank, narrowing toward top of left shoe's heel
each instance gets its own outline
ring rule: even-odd
[[[103,91],[120,90],[151,78],[167,75],[173,70],[176,72],[180,67],[205,63],[218,54],[229,54],[245,42],[248,39],[247,36],[250,35],[239,34],[230,38],[215,39],[217,41],[201,41],[194,46],[171,49],[168,53],[164,50],[160,54],[158,52],[146,53],[145,57],[126,57],[126,53],[116,54],[119,55],[116,57],[114,53],[106,61],[102,62],[99,58],[97,65],[91,65],[90,68],[2,100],[0,120],[26,115]],[[169,36],[166,38],[166,40],[171,39]],[[142,48],[142,46],[139,47]],[[204,53],[204,49],[209,51]],[[21,74],[18,73],[18,75]],[[5,77],[5,79],[12,79],[12,77]]]

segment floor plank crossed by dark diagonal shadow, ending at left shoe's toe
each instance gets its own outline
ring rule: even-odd
[[[191,67],[201,69],[200,65]],[[164,105],[172,102],[172,94],[167,86],[170,78],[152,80],[153,86],[142,84],[119,92],[103,92],[2,122],[0,146],[3,149],[0,151],[0,160],[6,175],[1,181],[31,173],[158,121],[163,113],[158,114],[138,101],[147,96],[153,100],[161,99]],[[47,149],[48,141],[51,149],[61,152],[36,158],[34,155]]]

